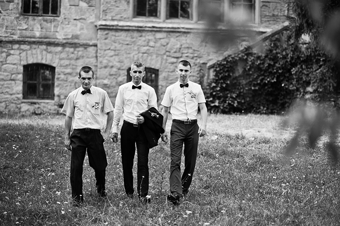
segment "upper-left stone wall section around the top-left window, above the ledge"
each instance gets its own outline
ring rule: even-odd
[[[95,0],[61,0],[60,16],[21,16],[21,0],[0,0],[0,36],[96,40]],[[73,5],[70,5],[73,4]],[[99,10],[99,9],[98,9]]]

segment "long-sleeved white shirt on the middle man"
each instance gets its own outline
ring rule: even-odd
[[[119,86],[116,97],[115,111],[112,123],[112,132],[118,132],[121,114],[123,120],[136,123],[136,115],[154,107],[157,109],[157,96],[153,87],[140,82],[142,88],[132,89],[135,85],[132,81]],[[138,85],[138,86],[139,86]]]

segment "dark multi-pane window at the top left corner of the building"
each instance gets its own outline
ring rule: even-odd
[[[60,16],[60,0],[22,0],[21,15]]]

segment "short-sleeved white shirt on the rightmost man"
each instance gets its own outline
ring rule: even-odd
[[[162,105],[170,107],[172,119],[197,119],[198,104],[205,103],[205,97],[200,84],[188,81],[188,87],[180,87],[181,82],[167,87]]]

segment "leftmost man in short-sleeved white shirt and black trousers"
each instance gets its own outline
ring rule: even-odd
[[[103,143],[110,137],[113,119],[113,106],[106,91],[92,85],[93,69],[90,66],[83,66],[78,79],[81,87],[68,95],[61,110],[61,113],[66,114],[65,146],[71,151],[70,182],[74,206],[80,206],[84,201],[82,177],[86,151],[90,166],[95,171],[97,192],[100,197],[106,197],[107,160]],[[106,128],[101,134],[105,117]]]

